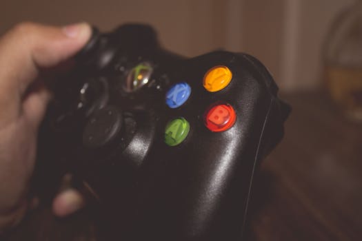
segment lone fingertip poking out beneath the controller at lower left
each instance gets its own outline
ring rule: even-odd
[[[76,189],[68,189],[58,194],[52,204],[53,213],[59,217],[68,216],[85,205],[85,200]]]

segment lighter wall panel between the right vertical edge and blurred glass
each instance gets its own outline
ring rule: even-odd
[[[312,89],[323,78],[322,46],[336,14],[354,0],[285,0],[283,89]]]

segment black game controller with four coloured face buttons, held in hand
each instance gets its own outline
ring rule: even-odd
[[[119,240],[241,240],[254,171],[290,112],[268,70],[248,54],[172,54],[146,25],[94,29],[75,60],[50,86],[47,181],[84,180]]]

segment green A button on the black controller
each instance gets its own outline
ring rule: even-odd
[[[165,129],[165,143],[174,147],[185,140],[190,131],[190,124],[185,118],[177,118],[168,123]]]

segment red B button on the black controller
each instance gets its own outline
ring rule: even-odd
[[[224,132],[234,125],[236,119],[231,105],[214,105],[205,116],[205,125],[212,132]]]

